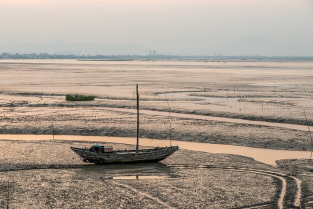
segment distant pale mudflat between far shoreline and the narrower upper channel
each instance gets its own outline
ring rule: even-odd
[[[106,105],[131,107],[138,83],[146,109],[168,110],[168,93],[175,112],[304,124],[306,109],[312,124],[312,69],[312,62],[3,60],[0,91],[91,94],[110,99]],[[190,92],[194,98],[171,92]],[[228,100],[205,101],[203,96]]]

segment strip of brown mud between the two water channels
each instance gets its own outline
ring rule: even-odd
[[[136,115],[104,107],[0,108],[2,134],[107,135],[134,137]],[[5,116],[4,116],[5,115]],[[309,132],[290,128],[140,114],[140,137],[312,150]]]

